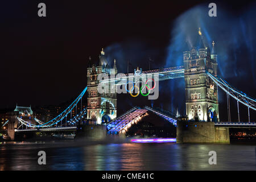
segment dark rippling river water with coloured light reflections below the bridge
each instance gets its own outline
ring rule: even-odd
[[[255,170],[255,147],[236,144],[2,143],[0,170]],[[46,165],[38,164],[38,151]],[[217,164],[209,165],[209,151]]]

